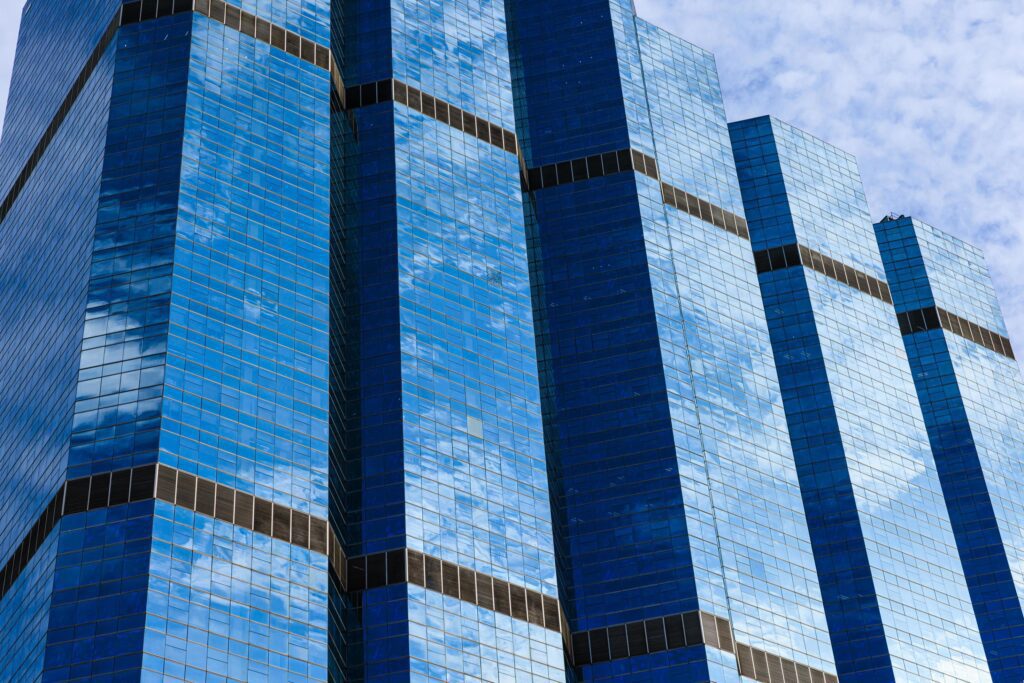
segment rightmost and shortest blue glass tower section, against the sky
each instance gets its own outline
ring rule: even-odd
[[[1024,680],[1024,383],[984,256],[874,225],[992,680]],[[980,333],[980,334],[979,334]]]

